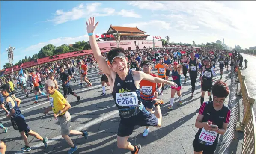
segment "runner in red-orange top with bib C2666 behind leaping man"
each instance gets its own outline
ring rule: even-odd
[[[158,77],[157,75],[150,72],[153,66],[153,62],[150,60],[144,61],[142,65],[143,72],[146,74],[150,74],[153,77]],[[158,85],[158,89],[156,88],[156,85]],[[146,110],[154,114],[153,107],[155,104],[160,103],[163,104],[164,101],[162,99],[156,99],[158,97],[158,93],[161,92],[162,84],[161,83],[152,83],[147,80],[141,80],[140,81],[140,97],[142,98],[141,102],[143,103],[144,107],[146,107]],[[157,103],[156,103],[157,102]],[[144,130],[143,137],[148,136],[149,134],[149,126],[146,126],[146,129]]]

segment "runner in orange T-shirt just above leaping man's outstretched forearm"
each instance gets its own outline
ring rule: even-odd
[[[172,68],[168,67],[168,65],[164,63],[164,58],[162,57],[159,59],[159,63],[155,65],[155,69],[158,69],[158,77],[164,80],[166,80],[165,79],[166,70],[172,71]],[[162,85],[162,91],[159,95],[163,95],[163,92],[164,92],[164,85]]]

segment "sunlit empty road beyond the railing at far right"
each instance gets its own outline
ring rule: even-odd
[[[249,91],[250,97],[256,100],[256,82],[255,82],[256,71],[254,67],[255,66],[254,62],[256,62],[256,56],[251,56],[248,54],[242,54],[242,56],[244,57],[244,59],[248,60],[248,66],[246,69],[243,68],[242,74],[245,75],[245,83]],[[243,62],[243,66],[244,65],[245,64]],[[253,108],[254,108],[254,113],[256,113],[256,102],[254,103]]]

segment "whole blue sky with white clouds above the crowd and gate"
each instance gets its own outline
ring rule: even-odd
[[[137,26],[150,39],[168,35],[170,41],[201,44],[225,38],[230,47],[249,48],[256,46],[255,8],[255,1],[1,1],[0,65],[8,62],[9,45],[16,48],[16,63],[49,43],[87,41],[90,16],[100,22],[96,34],[105,33],[110,24]]]

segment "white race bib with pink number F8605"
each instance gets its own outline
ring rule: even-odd
[[[204,145],[213,145],[217,135],[218,133],[215,131],[205,130],[205,128],[202,128],[198,141]]]

